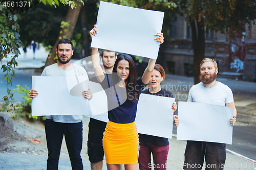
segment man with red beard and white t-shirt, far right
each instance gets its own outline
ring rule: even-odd
[[[216,81],[218,66],[214,59],[205,58],[200,63],[200,82],[189,90],[187,102],[207,103],[233,107],[230,124],[236,123],[237,110],[231,89]],[[187,141],[183,169],[223,169],[226,160],[226,144],[206,141]],[[208,168],[207,165],[210,165]],[[192,168],[194,167],[194,168]],[[212,168],[214,167],[214,168]]]

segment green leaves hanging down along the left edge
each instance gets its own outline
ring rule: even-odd
[[[9,105],[9,100],[13,99],[13,93],[8,85],[12,85],[12,79],[15,76],[14,68],[17,66],[15,58],[20,54],[18,48],[22,45],[19,40],[19,25],[17,23],[18,11],[12,11],[7,6],[3,5],[4,2],[0,2],[0,59],[7,58],[7,64],[3,64],[2,68],[5,74],[5,81],[7,83],[7,95],[4,96],[4,101]],[[13,56],[10,54],[13,53]],[[11,107],[13,104],[10,104]],[[10,112],[10,109],[7,109]]]

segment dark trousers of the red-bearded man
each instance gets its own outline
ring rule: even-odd
[[[226,144],[205,141],[187,141],[183,169],[223,169],[226,160]]]

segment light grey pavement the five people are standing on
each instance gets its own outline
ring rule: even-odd
[[[86,142],[88,138],[86,137],[88,133],[88,122],[89,117],[83,117],[83,149],[82,149],[82,161],[83,169],[91,169],[90,162],[87,155],[87,145]],[[169,154],[167,157],[166,167],[169,170],[182,169],[182,164],[184,162],[184,152],[186,147],[186,141],[176,140],[176,137],[169,139]],[[62,145],[65,143],[62,143]],[[66,153],[67,150],[61,150],[61,153]],[[0,153],[0,169],[1,170],[22,170],[22,169],[46,169],[47,155],[34,155],[34,154],[10,154],[10,153]],[[153,166],[153,162],[152,162]],[[61,154],[59,159],[59,169],[68,170],[72,169],[70,160],[67,154]],[[103,160],[103,170],[106,170],[106,163]],[[139,168],[138,168],[139,169]],[[202,168],[205,169],[205,168]],[[244,169],[244,170],[255,170],[256,162],[253,163],[249,160],[243,159],[238,155],[234,155],[230,152],[226,152],[226,164],[225,169]]]

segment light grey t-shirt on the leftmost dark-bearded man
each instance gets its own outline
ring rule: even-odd
[[[72,65],[73,67],[68,69],[59,68],[57,63],[49,65],[45,67],[45,69],[42,71],[41,76],[87,75],[87,72],[83,67],[73,63]],[[51,115],[51,116],[46,116],[46,118],[53,119],[54,122],[59,122],[59,123],[79,123],[82,121],[82,115]]]

